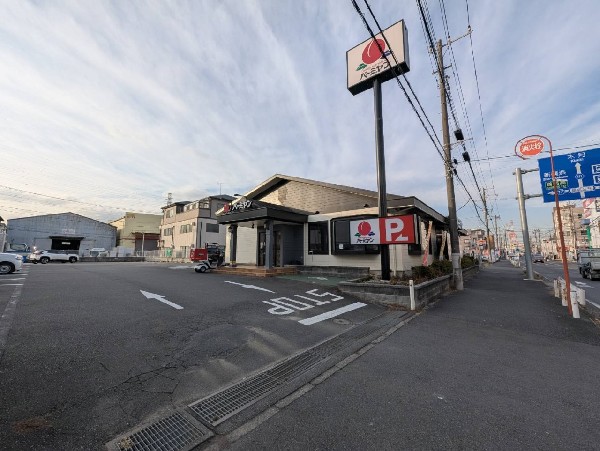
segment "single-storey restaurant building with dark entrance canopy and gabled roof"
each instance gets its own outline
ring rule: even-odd
[[[415,197],[388,194],[388,215],[415,215],[417,243],[390,245],[395,273],[447,255],[446,218]],[[352,244],[350,222],[378,217],[378,193],[275,175],[218,213],[227,225],[226,261],[271,268],[286,265],[381,270],[380,246]],[[431,231],[429,224],[431,223]],[[427,246],[425,237],[429,235]],[[426,250],[425,250],[426,249]]]

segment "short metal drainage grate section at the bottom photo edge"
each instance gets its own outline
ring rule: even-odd
[[[116,441],[119,451],[184,451],[208,438],[190,420],[175,413]]]

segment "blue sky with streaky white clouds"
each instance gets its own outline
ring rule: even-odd
[[[537,163],[514,155],[517,141],[541,134],[557,154],[600,147],[600,2],[422,4],[433,39],[452,41],[450,134],[463,130],[474,172],[453,145],[458,218],[484,227],[485,191],[490,228],[499,217],[519,230],[513,172]],[[417,1],[368,5],[383,29],[404,19],[400,83],[441,140]],[[373,91],[346,86],[346,51],[369,37],[350,0],[3,0],[2,10],[4,220],[161,214],[168,193],[243,194],[275,174],[377,190]],[[447,215],[442,158],[399,83],[382,91],[387,191]],[[538,173],[523,182],[541,192]],[[530,230],[552,229],[552,207],[527,201]]]

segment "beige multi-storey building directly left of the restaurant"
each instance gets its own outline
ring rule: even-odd
[[[159,239],[162,256],[185,259],[191,249],[207,244],[225,246],[226,229],[218,223],[216,213],[233,199],[223,194],[162,207]]]

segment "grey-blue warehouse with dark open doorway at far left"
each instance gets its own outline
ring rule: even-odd
[[[8,243],[24,243],[31,249],[70,250],[86,255],[92,248],[112,249],[117,229],[75,213],[58,213],[7,221]]]

